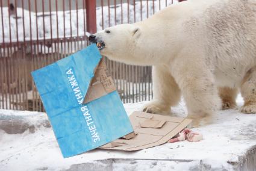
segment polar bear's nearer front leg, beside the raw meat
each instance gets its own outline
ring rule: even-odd
[[[211,115],[221,106],[214,75],[201,60],[193,61],[193,65],[183,64],[172,71],[186,101],[188,117],[193,120],[192,126],[211,123]]]

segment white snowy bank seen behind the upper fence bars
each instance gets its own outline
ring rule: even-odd
[[[177,3],[177,1],[174,1]],[[152,1],[142,1],[142,5],[140,2],[136,2],[135,5],[129,5],[124,3],[121,7],[120,4],[116,5],[116,13],[115,13],[115,6],[111,5],[110,8],[108,6],[103,7],[103,14],[102,8],[96,8],[96,19],[97,19],[97,30],[102,30],[102,16],[103,16],[103,26],[107,28],[108,26],[113,26],[115,24],[122,23],[133,23],[136,21],[140,21],[146,19],[147,16],[151,16],[154,12],[157,12],[160,8],[163,9],[166,5],[170,5],[170,1],[167,2],[161,0],[160,4],[159,1],[155,1],[154,5]],[[153,10],[154,7],[154,10]],[[134,10],[135,8],[135,10]],[[108,10],[110,10],[110,17],[108,17]],[[140,11],[142,10],[142,15]],[[69,10],[66,11],[52,11],[50,14],[49,12],[43,13],[34,13],[23,10],[24,11],[24,26],[23,29],[23,14],[22,8],[17,8],[17,18],[16,14],[12,14],[10,16],[10,24],[9,24],[9,14],[8,8],[2,8],[3,16],[0,13],[0,23],[2,23],[3,17],[3,24],[4,24],[4,42],[10,42],[10,33],[11,33],[11,42],[16,42],[17,37],[19,41],[22,42],[24,40],[24,30],[25,30],[25,40],[37,40],[37,33],[39,40],[42,40],[45,36],[46,39],[51,39],[51,29],[52,29],[52,38],[57,38],[57,26],[58,26],[58,37],[64,37],[64,32],[66,37],[70,37],[71,33],[72,36],[85,36],[84,33],[84,14],[86,11],[80,9],[77,11],[78,20],[76,20],[76,10]],[[123,13],[122,13],[123,11]],[[134,11],[136,20],[134,20]],[[58,20],[57,20],[57,13],[58,13]],[[129,20],[128,20],[129,14]],[[44,16],[44,17],[43,17]],[[30,17],[31,17],[31,30],[30,30]],[[70,20],[71,17],[71,20]],[[108,20],[110,18],[110,20]],[[116,22],[115,22],[116,19]],[[17,20],[17,27],[16,27],[16,20]],[[70,22],[71,21],[71,22]],[[64,28],[65,22],[65,28]],[[78,23],[77,23],[78,22]],[[45,28],[44,28],[45,27]],[[16,28],[18,28],[18,35],[16,32]],[[70,30],[72,28],[72,31]],[[0,24],[0,30],[2,30],[2,24]],[[9,32],[9,30],[11,32]],[[45,30],[45,31],[44,31]],[[30,35],[31,31],[31,35]],[[78,33],[78,34],[77,34]],[[2,31],[0,31],[0,43],[3,42],[3,35]]]

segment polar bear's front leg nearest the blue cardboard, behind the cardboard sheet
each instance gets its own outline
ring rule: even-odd
[[[170,114],[170,107],[178,104],[181,92],[170,70],[165,66],[153,66],[153,99],[143,111],[156,114]]]

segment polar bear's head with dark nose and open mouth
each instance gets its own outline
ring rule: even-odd
[[[145,45],[141,46],[143,37],[139,25],[122,24],[90,35],[89,41],[96,43],[101,54],[110,60],[145,65]]]

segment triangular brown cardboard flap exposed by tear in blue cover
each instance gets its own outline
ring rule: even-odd
[[[106,64],[101,60],[96,67],[95,76],[90,82],[90,87],[86,93],[83,104],[101,98],[115,90],[114,81],[108,73]]]

